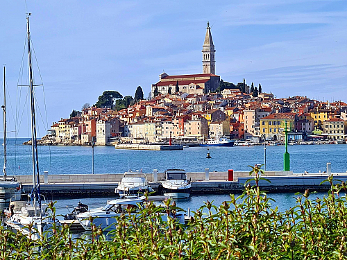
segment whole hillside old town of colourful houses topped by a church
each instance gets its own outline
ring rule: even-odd
[[[306,96],[276,98],[251,87],[220,79],[215,72],[215,49],[208,24],[203,42],[203,73],[169,76],[163,72],[144,100],[106,91],[95,105],[83,105],[69,119],[53,123],[42,144],[96,144],[113,141],[154,144],[171,140],[196,142],[230,139],[279,141],[287,125],[291,141],[345,140],[347,104],[322,102]]]

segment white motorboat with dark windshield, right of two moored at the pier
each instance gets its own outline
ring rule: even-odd
[[[189,198],[192,184],[187,180],[185,170],[169,169],[161,182],[164,196],[170,198]]]

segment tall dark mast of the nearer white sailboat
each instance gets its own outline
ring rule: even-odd
[[[29,14],[30,15],[30,14]],[[33,155],[33,192],[34,192],[34,209],[36,216],[36,201],[40,207],[41,214],[41,200],[40,200],[40,175],[39,175],[39,159],[37,156],[37,138],[36,138],[36,125],[35,125],[35,97],[33,86],[33,68],[31,65],[31,38],[29,31],[29,17],[28,21],[28,66],[29,66],[29,78],[30,78],[30,100],[31,100],[31,150]]]

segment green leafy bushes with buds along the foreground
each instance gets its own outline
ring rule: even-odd
[[[231,195],[219,207],[205,202],[186,227],[162,221],[163,211],[178,210],[169,202],[148,203],[137,218],[121,216],[107,237],[94,227],[90,236],[71,239],[69,227],[62,227],[34,243],[1,227],[0,259],[347,259],[344,182],[335,185],[329,177],[323,199],[310,200],[306,191],[280,212],[257,185],[261,172],[252,169],[255,186],[248,184],[238,198]]]

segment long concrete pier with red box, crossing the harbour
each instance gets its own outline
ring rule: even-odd
[[[270,182],[260,180],[260,187],[269,192],[289,191],[327,191],[329,182],[321,184],[331,173],[293,173],[292,171],[266,171],[262,177]],[[146,173],[153,189],[156,189],[164,173]],[[333,173],[335,180],[347,182],[347,173]],[[16,176],[22,182],[26,192],[31,191],[32,176]],[[73,174],[40,176],[40,189],[47,199],[57,198],[85,198],[95,196],[115,196],[115,188],[123,177],[123,173],[108,174]],[[244,183],[252,176],[247,171],[187,173],[192,181],[192,194],[205,193],[240,193],[244,190]],[[337,181],[335,181],[337,182]],[[251,185],[255,183],[251,181]]]

